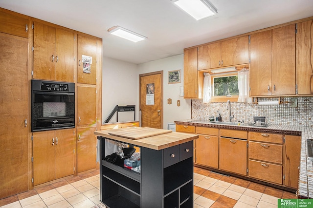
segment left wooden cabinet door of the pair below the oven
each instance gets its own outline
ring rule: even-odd
[[[33,177],[34,186],[55,179],[55,145],[54,131],[33,133]]]

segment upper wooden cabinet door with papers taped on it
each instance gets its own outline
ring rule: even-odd
[[[80,34],[77,38],[77,82],[96,84],[97,39]],[[92,58],[90,65],[87,62],[84,64],[83,56]]]

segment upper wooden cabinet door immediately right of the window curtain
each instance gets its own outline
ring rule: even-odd
[[[250,96],[271,95],[271,30],[250,35]]]

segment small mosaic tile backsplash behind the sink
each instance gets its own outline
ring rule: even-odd
[[[291,97],[284,97],[280,105],[256,105],[252,103],[231,102],[232,121],[244,120],[252,122],[253,116],[266,116],[270,124],[313,127],[313,97],[296,97],[298,107],[291,108]],[[278,101],[278,98],[258,98],[258,101]],[[208,120],[210,116],[221,113],[222,121],[228,121],[229,111],[226,102],[203,103],[201,99],[193,99],[191,117]]]

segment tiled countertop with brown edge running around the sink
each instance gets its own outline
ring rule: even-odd
[[[188,119],[175,121],[176,124],[213,127],[222,129],[245,130],[250,132],[267,132],[267,133],[281,133],[289,135],[301,136],[301,157],[300,157],[300,177],[298,195],[301,197],[313,198],[313,161],[307,160],[307,139],[313,139],[313,128],[302,126],[288,126],[288,125],[270,125],[267,128],[255,127],[247,125],[225,125],[212,124],[210,121],[201,121],[198,119]]]

